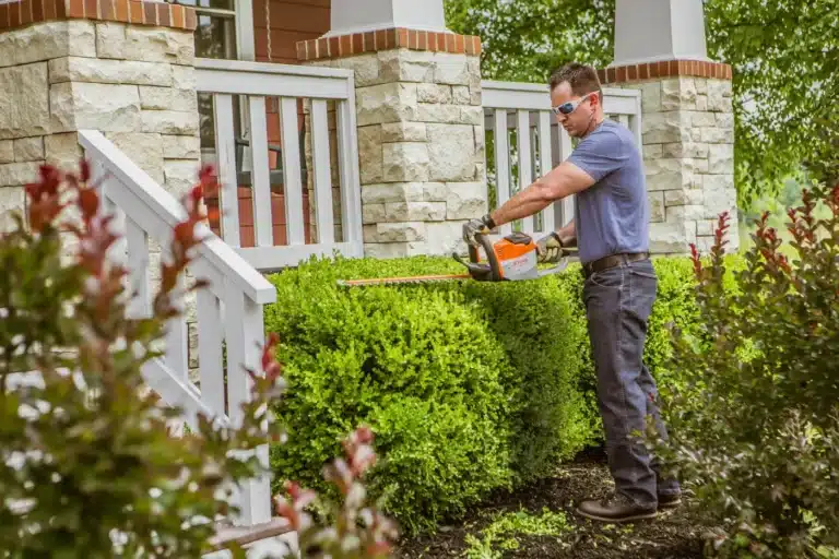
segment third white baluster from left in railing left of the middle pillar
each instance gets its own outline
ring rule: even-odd
[[[294,97],[282,97],[280,107],[283,138],[283,173],[285,175],[285,222],[288,230],[288,245],[305,245],[297,99]]]

